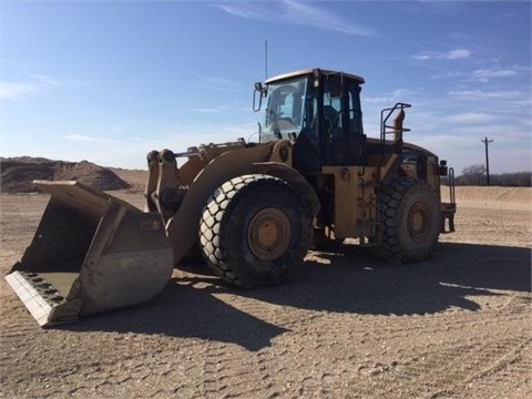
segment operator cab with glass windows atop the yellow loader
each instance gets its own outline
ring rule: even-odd
[[[362,164],[362,83],[357,75],[314,69],[255,84],[260,93],[255,111],[265,102],[259,141],[293,141],[294,166],[300,171]]]

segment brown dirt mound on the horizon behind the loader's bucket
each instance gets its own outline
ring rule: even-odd
[[[63,162],[22,156],[0,158],[0,162],[2,193],[35,192],[38,190],[31,183],[34,180],[79,181],[101,191],[130,188],[130,184],[114,172],[88,161]]]

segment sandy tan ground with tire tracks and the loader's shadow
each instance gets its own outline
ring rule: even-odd
[[[1,196],[2,274],[47,198]],[[532,191],[457,198],[458,232],[421,264],[310,252],[298,279],[259,290],[176,270],[147,304],[53,329],[2,278],[0,397],[531,398]]]

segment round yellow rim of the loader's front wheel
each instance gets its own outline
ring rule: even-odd
[[[265,208],[249,223],[247,242],[255,256],[263,260],[273,260],[286,252],[290,235],[288,217],[279,209]]]

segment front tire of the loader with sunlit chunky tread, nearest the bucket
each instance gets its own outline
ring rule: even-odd
[[[235,177],[208,200],[200,244],[211,269],[246,288],[291,277],[307,253],[310,217],[288,183],[268,175]]]

